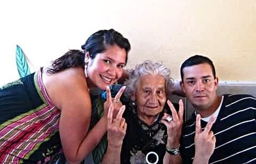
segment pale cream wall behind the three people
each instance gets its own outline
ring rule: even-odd
[[[127,68],[162,60],[180,79],[181,62],[205,54],[221,80],[256,82],[255,0],[10,0],[0,2],[0,24],[0,85],[19,77],[16,44],[35,71],[109,28],[131,42]]]

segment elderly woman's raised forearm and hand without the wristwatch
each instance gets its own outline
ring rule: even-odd
[[[123,144],[123,139],[125,136],[125,131],[127,124],[125,119],[122,117],[124,113],[125,106],[123,105],[116,118],[113,117],[114,107],[110,106],[108,111],[108,121],[107,121],[107,132],[108,132],[108,149],[105,153],[102,163],[120,163],[120,155]]]

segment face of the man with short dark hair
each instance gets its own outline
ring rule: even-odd
[[[208,63],[183,68],[181,88],[196,109],[208,109],[217,98],[218,78]]]

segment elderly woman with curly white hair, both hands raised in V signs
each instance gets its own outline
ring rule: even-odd
[[[167,100],[170,70],[162,62],[145,61],[129,71],[125,85],[123,116],[114,117],[113,110],[108,114],[108,151],[102,162],[181,163],[183,103],[177,112]]]

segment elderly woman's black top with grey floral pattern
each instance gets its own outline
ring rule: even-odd
[[[148,153],[147,159],[149,162],[156,162],[157,154],[157,163],[163,163],[167,129],[159,121],[162,119],[164,112],[171,114],[169,107],[167,108],[166,104],[154,124],[147,125],[138,118],[136,105],[132,105],[132,102],[127,101],[127,99],[125,105],[126,109],[123,117],[127,122],[127,129],[122,145],[121,163],[147,163],[146,156]],[[179,109],[177,108],[178,104],[174,104],[174,106],[175,109]]]

